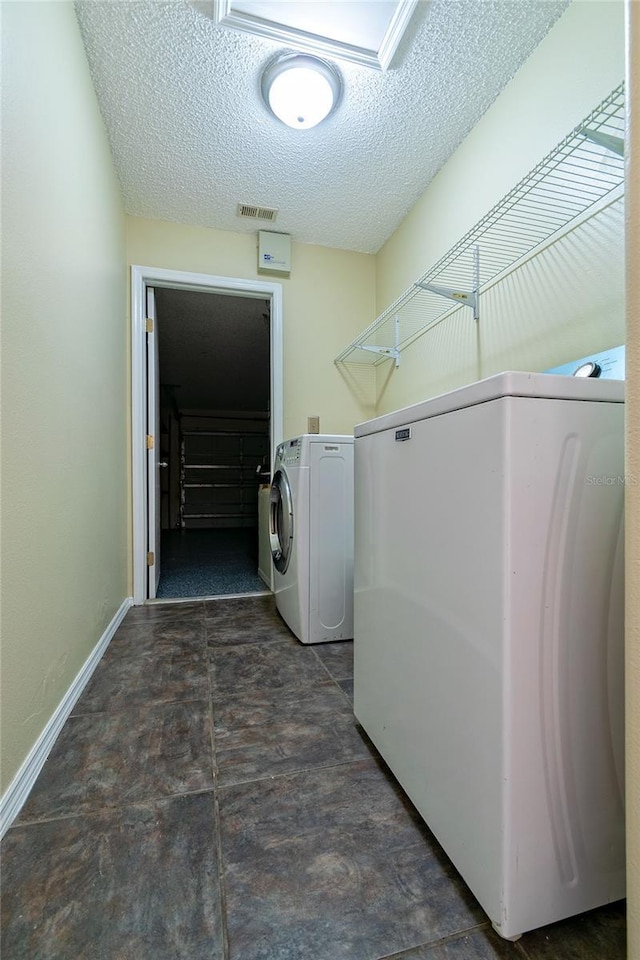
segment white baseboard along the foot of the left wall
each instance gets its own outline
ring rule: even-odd
[[[53,716],[36,740],[26,760],[0,798],[0,838],[5,835],[6,831],[20,813],[23,804],[31,792],[31,788],[36,782],[38,774],[44,766],[45,760],[51,753],[60,731],[80,698],[80,694],[91,679],[93,671],[98,666],[98,661],[109,646],[113,635],[122,623],[132,602],[131,597],[127,597],[127,599],[122,602],[107,629],[87,658],[84,666],[58,704]]]

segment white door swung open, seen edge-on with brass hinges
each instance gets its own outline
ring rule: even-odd
[[[148,596],[160,581],[160,362],[153,287],[147,287],[147,567]]]

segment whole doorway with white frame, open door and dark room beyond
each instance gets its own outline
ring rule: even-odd
[[[281,285],[133,267],[132,335],[134,602],[270,589]]]

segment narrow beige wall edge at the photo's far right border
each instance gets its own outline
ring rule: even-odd
[[[640,957],[640,4],[627,2],[627,956]]]

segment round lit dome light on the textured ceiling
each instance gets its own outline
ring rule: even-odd
[[[328,117],[340,97],[340,76],[332,64],[303,53],[272,60],[262,75],[262,96],[279,120],[309,130]]]

